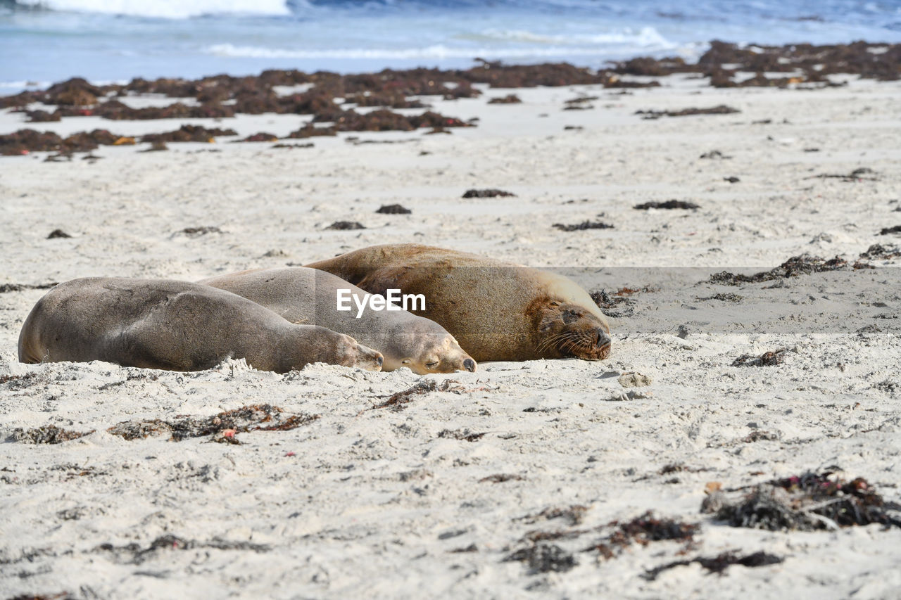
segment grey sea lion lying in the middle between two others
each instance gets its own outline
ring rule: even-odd
[[[202,279],[198,283],[242,295],[292,323],[311,323],[347,333],[385,356],[382,370],[409,367],[414,373],[476,370],[476,361],[441,325],[405,310],[372,310],[350,303],[339,311],[342,295],[361,299],[366,291],[314,268],[251,269]],[[358,310],[359,309],[359,310]]]

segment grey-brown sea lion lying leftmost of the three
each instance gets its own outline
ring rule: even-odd
[[[196,371],[228,357],[285,373],[311,362],[378,371],[382,355],[350,336],[288,323],[240,295],[187,281],[89,277],[41,298],[19,334],[26,363],[105,360]]]

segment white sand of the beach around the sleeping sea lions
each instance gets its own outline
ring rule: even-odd
[[[831,465],[901,500],[896,271],[821,274],[765,289],[769,284],[695,286],[710,269],[692,278],[616,268],[760,270],[802,252],[853,261],[870,244],[897,243],[898,236],[877,233],[901,224],[893,212],[901,189],[901,86],[714,90],[670,77],[664,87],[632,95],[514,90],[522,105],[486,104],[510,91],[434,102],[442,114],[478,116],[477,128],[359,134],[414,140],[405,143],[353,145],[344,136],[314,139],[312,149],[272,150],[223,138],[147,154],[104,147],[94,163],[78,155],[61,163],[44,163],[43,155],[0,159],[0,284],[96,275],[196,280],[417,241],[535,267],[590,268],[590,289],[660,288],[635,295],[631,317],[611,320],[614,353],[605,362],[482,364],[477,373],[437,377],[459,381],[464,391],[418,395],[399,412],[368,409],[422,379],[407,370],[316,365],[278,376],[241,363],[192,374],[106,363],[21,365],[16,339],[44,291],[0,294],[0,377],[32,375],[0,384],[0,441],[14,428],[47,424],[96,430],[59,445],[0,443],[0,595],[898,597],[898,529],[766,532],[698,513],[707,482],[744,486]],[[593,110],[562,111],[578,94],[601,97]],[[719,104],[742,113],[656,121],[634,114]],[[307,119],[186,123],[244,136],[285,134]],[[772,123],[752,124],[764,119]],[[21,120],[0,114],[0,131],[27,126]],[[33,126],[132,135],[179,123],[82,117]],[[709,150],[733,158],[698,158]],[[878,180],[805,178],[860,167]],[[725,182],[730,176],[741,181]],[[461,199],[469,187],[518,197]],[[702,208],[633,210],[669,199]],[[375,214],[393,203],[413,214]],[[615,229],[551,227],[601,213]],[[337,220],[368,229],[323,231]],[[222,233],[180,233],[197,226]],[[57,228],[73,237],[46,239]],[[716,293],[746,300],[697,300]],[[874,306],[876,299],[884,305]],[[872,324],[880,331],[855,333]],[[778,348],[791,349],[781,366],[731,366],[742,354]],[[644,397],[610,401],[625,391],[616,376],[633,370],[653,377],[639,388]],[[293,431],[241,433],[239,446],[208,438],[124,441],[105,432],[132,419],[262,403],[322,416]],[[463,441],[439,437],[442,430],[487,433]],[[741,441],[754,430],[778,439]],[[659,474],[672,463],[707,470]],[[495,474],[523,478],[480,482]],[[668,483],[673,477],[678,481]],[[521,517],[569,505],[589,507],[576,530],[652,510],[702,523],[702,531],[684,556],[672,541],[633,545],[609,560],[581,551],[603,530],[552,541],[578,560],[568,572],[529,574],[523,563],[503,561],[528,545],[526,532],[570,529],[565,520]],[[146,549],[165,535],[198,547],[99,549]],[[450,551],[470,544],[478,550]],[[735,566],[724,577],[697,564],[653,582],[640,577],[671,560],[723,550],[766,550],[785,561]]]

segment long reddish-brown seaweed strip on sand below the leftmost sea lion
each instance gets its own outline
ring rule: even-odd
[[[168,435],[169,441],[182,441],[217,433],[223,433],[223,437],[227,438],[230,436],[224,435],[224,432],[229,430],[232,431],[232,437],[236,432],[283,432],[313,423],[319,416],[287,414],[274,405],[249,405],[208,417],[183,416],[172,421],[123,421],[106,431],[130,441],[165,435]]]

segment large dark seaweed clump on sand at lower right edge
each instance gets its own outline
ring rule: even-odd
[[[901,505],[883,499],[863,477],[849,481],[838,471],[833,467],[772,479],[737,499],[708,487],[702,512],[733,527],[770,531],[834,531],[870,523],[901,527]]]

